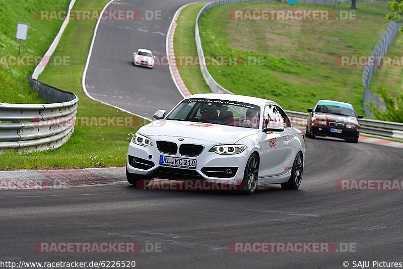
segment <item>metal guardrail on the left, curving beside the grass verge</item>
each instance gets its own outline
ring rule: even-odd
[[[0,154],[10,150],[31,152],[56,149],[74,132],[78,97],[41,83],[37,78],[56,49],[75,2],[71,1],[66,20],[29,78],[31,87],[49,104],[0,103]]]

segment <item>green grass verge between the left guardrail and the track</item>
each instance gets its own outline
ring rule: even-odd
[[[78,0],[76,10],[100,10],[107,0]],[[131,117],[89,99],[83,92],[83,75],[96,21],[70,21],[53,56],[70,56],[70,66],[47,66],[39,77],[41,82],[79,98],[78,121],[70,140],[61,148],[47,152],[1,155],[0,170],[114,167],[125,165],[129,139],[145,122],[135,118],[128,127],[81,126],[86,117]],[[92,157],[92,159],[91,159]],[[94,159],[96,157],[96,159]]]

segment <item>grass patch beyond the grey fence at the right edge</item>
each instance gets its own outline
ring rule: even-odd
[[[403,34],[397,33],[392,45],[389,47],[386,56],[403,55]],[[400,61],[400,60],[399,60]],[[371,83],[371,91],[379,95],[378,85],[386,88],[387,93],[392,96],[403,94],[403,62],[398,66],[381,66]]]

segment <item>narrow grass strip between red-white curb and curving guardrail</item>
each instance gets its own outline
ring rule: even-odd
[[[182,10],[177,21],[174,37],[174,49],[176,56],[197,56],[196,44],[194,42],[194,27],[196,17],[206,3],[190,5]],[[211,93],[198,65],[178,66],[179,73],[187,89],[192,94]]]

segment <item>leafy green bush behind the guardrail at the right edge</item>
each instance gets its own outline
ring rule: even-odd
[[[374,114],[376,119],[403,122],[403,94],[392,97],[387,94],[386,89],[378,85],[378,90],[386,104],[386,109],[378,109],[372,102],[368,108]]]

